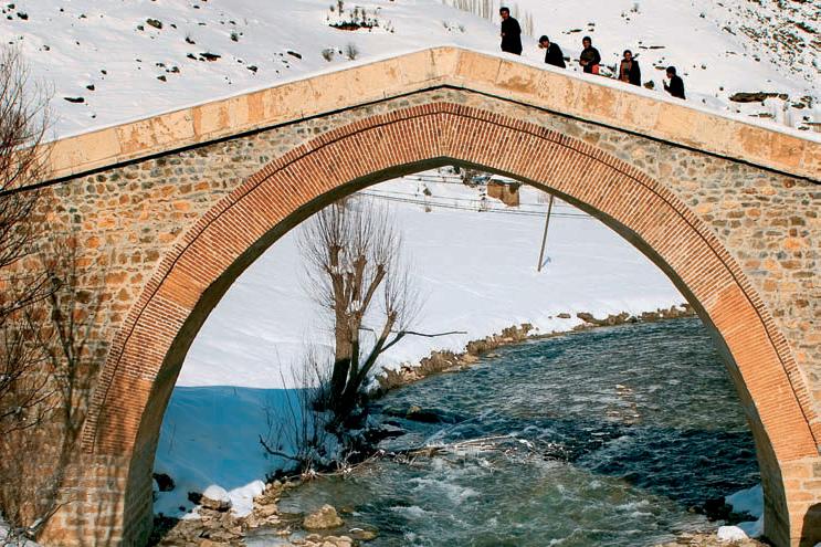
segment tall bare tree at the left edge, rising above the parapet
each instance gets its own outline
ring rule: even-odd
[[[0,50],[0,435],[38,423],[25,410],[39,408],[49,395],[44,379],[25,374],[41,356],[25,344],[21,328],[21,311],[48,294],[48,277],[15,267],[34,252],[32,215],[40,194],[30,187],[45,171],[40,145],[46,105],[48,96],[32,90],[19,51]]]

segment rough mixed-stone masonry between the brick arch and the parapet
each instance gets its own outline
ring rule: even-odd
[[[105,272],[105,286],[95,287],[105,293],[96,330],[99,344],[112,345],[169,248],[221,198],[269,161],[340,126],[443,102],[527,120],[580,139],[664,183],[712,228],[741,265],[778,330],[787,338],[787,354],[798,365],[798,380],[809,388],[808,404],[821,413],[821,287],[815,281],[820,267],[821,187],[806,179],[457,90],[420,92],[138,160],[51,187],[48,192],[53,201],[49,202],[48,217],[52,232],[73,230],[85,251],[83,264],[90,271]],[[211,252],[219,254],[220,249]],[[104,391],[95,393],[95,402],[104,401],[105,396]],[[161,418],[164,409],[151,410]],[[95,428],[87,428],[85,433],[87,446],[94,450]],[[146,466],[146,456],[140,459],[141,466]],[[817,463],[807,465],[817,471],[812,466]],[[806,480],[818,482],[815,471],[809,471]],[[821,503],[821,486],[814,492],[814,502]]]

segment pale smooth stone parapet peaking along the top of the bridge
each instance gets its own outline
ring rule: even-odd
[[[455,46],[428,49],[54,141],[62,178],[438,86],[513,99],[821,181],[821,139],[644,90]]]

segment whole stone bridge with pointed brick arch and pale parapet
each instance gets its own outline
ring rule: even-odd
[[[735,381],[767,536],[821,541],[818,138],[439,48],[59,140],[51,161],[52,231],[105,277],[87,287],[104,358],[46,545],[143,545],[162,415],[229,285],[333,200],[443,165],[554,193],[657,264]]]

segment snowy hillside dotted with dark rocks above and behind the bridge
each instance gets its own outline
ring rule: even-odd
[[[19,46],[33,76],[53,87],[55,130],[65,135],[275,85],[352,60],[445,43],[497,51],[498,1],[491,2],[488,21],[442,0],[17,0],[0,6],[0,40]],[[653,81],[656,90],[663,76],[656,67],[674,64],[697,104],[807,129],[821,116],[818,2],[509,4],[531,21],[536,36],[550,35],[566,56],[578,56],[586,34],[609,65],[632,49],[644,82]],[[341,30],[350,22],[365,28]],[[534,36],[525,40],[524,56],[541,59]],[[737,92],[788,98],[730,102]]]

